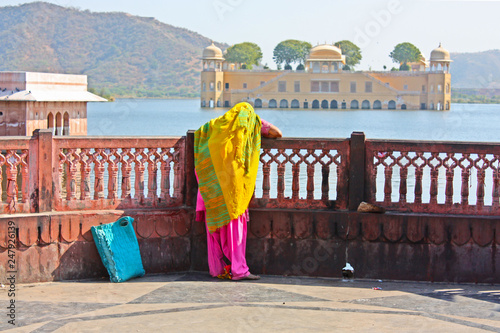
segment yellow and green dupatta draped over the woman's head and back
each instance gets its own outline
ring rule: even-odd
[[[255,189],[261,121],[239,103],[194,134],[194,163],[210,233],[241,216]]]

